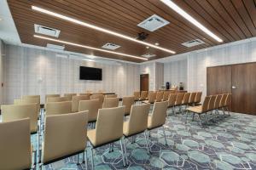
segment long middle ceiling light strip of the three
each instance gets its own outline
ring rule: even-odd
[[[151,47],[151,48],[157,48],[157,49],[160,49],[160,50],[165,51],[165,52],[167,52],[167,53],[171,53],[171,54],[175,54],[175,53],[176,53],[175,51],[172,51],[172,50],[170,50],[170,49],[161,48],[160,46],[156,46],[156,45],[154,45],[154,44],[152,44],[152,43],[143,42],[143,41],[137,40],[137,39],[135,39],[135,38],[133,38],[133,37],[125,36],[125,35],[120,34],[120,33],[118,33],[118,32],[110,31],[110,30],[107,30],[107,29],[102,28],[102,27],[99,27],[99,26],[94,26],[94,25],[91,25],[91,24],[86,23],[86,22],[84,22],[84,21],[76,20],[76,19],[73,19],[73,18],[71,18],[71,17],[65,16],[65,15],[62,15],[62,14],[57,14],[57,13],[55,13],[55,12],[49,11],[49,10],[44,9],[44,8],[39,8],[39,7],[36,7],[36,6],[32,6],[32,9],[33,9],[33,10],[36,10],[36,11],[39,11],[39,12],[41,12],[41,13],[44,13],[44,14],[49,14],[49,15],[51,15],[51,16],[55,16],[56,18],[59,18],[59,19],[61,19],[61,20],[67,20],[67,21],[73,22],[73,23],[75,23],[75,24],[78,24],[78,25],[80,25],[80,26],[86,26],[86,27],[89,27],[89,28],[94,29],[94,30],[96,30],[96,31],[102,31],[102,32],[111,34],[111,35],[113,35],[113,36],[115,36],[115,37],[121,37],[121,38],[124,38],[124,39],[126,39],[126,40],[130,40],[130,41],[132,41],[132,42],[141,43],[141,44],[143,44],[143,45],[145,45],[145,46],[149,46],[149,47]]]

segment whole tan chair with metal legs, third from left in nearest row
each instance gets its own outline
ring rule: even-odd
[[[123,165],[125,156],[123,150],[123,120],[125,107],[100,109],[96,121],[96,129],[88,130],[87,137],[91,145],[91,167],[94,168],[94,149],[106,144],[120,141]]]

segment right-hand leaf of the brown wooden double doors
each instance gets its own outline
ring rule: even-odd
[[[256,63],[232,65],[232,111],[256,115]]]

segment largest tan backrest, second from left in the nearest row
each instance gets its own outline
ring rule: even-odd
[[[87,111],[46,116],[43,163],[83,151],[87,140]]]

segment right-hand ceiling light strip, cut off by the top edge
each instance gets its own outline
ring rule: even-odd
[[[213,39],[215,39],[218,42],[223,42],[223,40],[221,38],[219,38],[218,36],[216,36],[214,33],[212,33],[212,31],[208,30],[207,27],[201,25],[200,22],[198,22],[197,20],[195,20],[191,15],[189,15],[188,13],[186,13],[182,8],[179,8],[177,6],[177,4],[173,3],[172,0],[160,0],[162,3],[165,3],[168,7],[172,8],[174,11],[177,12],[177,14],[182,15],[186,20],[189,20],[189,22],[191,22],[193,25],[197,26],[199,29],[201,29],[201,31],[204,31],[207,33],[207,35],[209,35],[210,37],[212,37]]]

